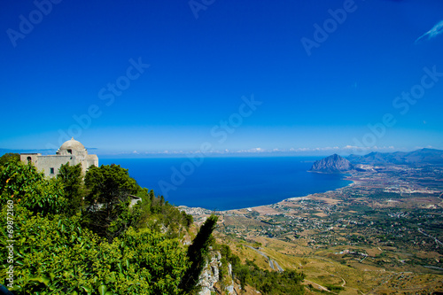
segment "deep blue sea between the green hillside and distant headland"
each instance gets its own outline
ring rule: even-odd
[[[176,206],[229,210],[275,204],[284,198],[335,190],[349,184],[343,175],[309,173],[306,157],[190,159],[100,159],[117,164],[144,188]]]

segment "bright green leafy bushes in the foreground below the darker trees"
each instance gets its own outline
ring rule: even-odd
[[[177,239],[128,229],[109,244],[78,218],[15,213],[16,294],[179,294],[187,261]],[[1,241],[4,248],[4,232]]]

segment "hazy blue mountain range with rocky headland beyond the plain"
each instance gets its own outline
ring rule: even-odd
[[[377,152],[373,151],[364,156],[350,155],[347,159],[333,154],[315,161],[309,171],[322,173],[341,173],[354,169],[357,164],[381,165],[416,165],[440,164],[443,165],[443,151],[435,149],[421,149],[416,151]]]

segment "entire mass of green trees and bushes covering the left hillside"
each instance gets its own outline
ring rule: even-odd
[[[12,234],[0,230],[0,283],[13,265],[15,294],[183,294],[190,261],[179,238],[190,215],[119,166],[91,167],[84,182],[81,171],[65,165],[49,179],[33,165],[0,166],[0,218],[13,213]]]

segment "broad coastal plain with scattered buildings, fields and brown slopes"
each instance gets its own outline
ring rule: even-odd
[[[306,275],[308,294],[443,291],[443,167],[364,165],[338,190],[212,212],[215,237],[243,260]]]

